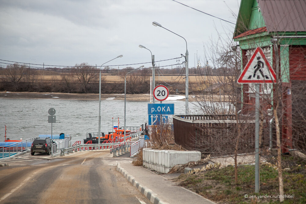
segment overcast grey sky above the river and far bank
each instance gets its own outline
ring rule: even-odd
[[[233,23],[240,6],[240,0],[177,1]],[[101,66],[122,54],[105,65],[136,68],[142,64],[127,64],[151,61],[150,52],[139,44],[151,50],[155,61],[185,55],[185,40],[153,26],[153,21],[186,39],[189,68],[194,67],[196,54],[204,63],[203,46],[210,49],[218,35],[234,30],[233,24],[172,0],[0,0],[0,59]],[[166,66],[176,60],[156,64]]]

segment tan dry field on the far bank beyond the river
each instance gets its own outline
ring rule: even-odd
[[[123,79],[121,79],[121,77],[119,76],[109,76],[109,75],[103,75],[105,76],[105,80],[106,81],[124,81]],[[155,75],[155,81],[166,81],[166,82],[185,82],[185,79],[183,79],[185,76],[177,76],[177,75],[173,75],[173,76],[156,76]],[[45,75],[45,76],[41,76],[41,79],[44,80],[61,80],[61,76],[60,75]],[[204,76],[189,76],[189,82],[203,82],[204,81]],[[218,82],[218,77],[217,76],[205,76],[205,81],[212,81],[213,83],[217,83]]]

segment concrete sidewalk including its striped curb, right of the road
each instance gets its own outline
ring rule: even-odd
[[[133,166],[130,161],[123,160],[118,163],[117,171],[154,204],[215,203],[183,187],[176,186],[170,179],[179,174],[158,175],[142,166]]]

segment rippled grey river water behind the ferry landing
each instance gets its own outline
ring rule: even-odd
[[[185,114],[185,101],[167,101],[174,103],[175,115]],[[126,126],[140,126],[148,122],[148,101],[126,101]],[[189,102],[189,112],[201,114],[197,106]],[[53,134],[65,133],[72,136],[72,142],[82,141],[87,132],[98,132],[98,100],[65,99],[19,99],[0,98],[0,141],[9,139],[28,139],[38,135],[50,135],[51,123],[48,123],[48,110],[56,110],[56,123]],[[101,101],[101,132],[112,130],[112,124],[124,126],[124,100]],[[112,119],[114,118],[114,119]]]

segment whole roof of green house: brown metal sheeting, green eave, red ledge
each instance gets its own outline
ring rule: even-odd
[[[258,3],[266,30],[249,30],[251,9]],[[264,27],[263,27],[264,28]],[[234,39],[259,32],[306,32],[306,0],[241,0]]]

